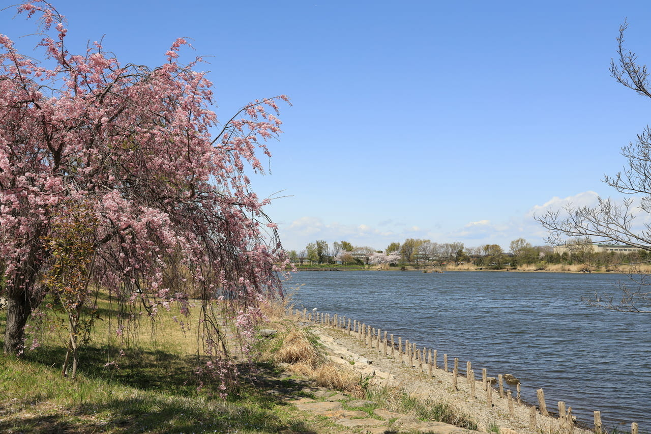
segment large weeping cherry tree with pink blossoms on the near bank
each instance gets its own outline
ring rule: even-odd
[[[18,11],[38,16],[46,36],[37,61],[0,35],[5,353],[20,353],[25,324],[54,285],[44,276],[61,263],[55,222],[81,207],[93,222],[83,236],[92,283],[147,315],[173,302],[187,312],[190,293],[200,297],[204,351],[219,359],[215,306],[249,334],[260,302],[281,293],[284,253],[263,212],[268,199],[243,171],[264,171],[256,152],[270,154],[264,141],[281,132],[275,113],[287,98],[256,100],[218,123],[212,83],[194,70],[201,59],[178,61],[186,40],[157,68],[120,65],[97,42],[68,52],[64,18],[48,3]]]

